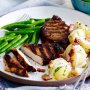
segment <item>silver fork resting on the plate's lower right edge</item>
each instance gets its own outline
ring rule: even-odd
[[[85,83],[85,80],[87,78],[87,75],[88,75],[88,72],[90,70],[90,61],[87,60],[87,67],[85,68],[84,72],[81,74],[81,76],[79,77],[78,81],[75,83],[75,86],[72,90],[75,90],[77,88],[77,86],[79,85],[79,82],[81,81],[82,77],[84,76],[82,82],[81,82],[81,85],[80,87],[78,88],[79,90],[81,90],[82,86],[84,85]]]

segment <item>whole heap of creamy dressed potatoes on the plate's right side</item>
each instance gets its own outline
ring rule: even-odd
[[[68,39],[70,44],[64,52],[64,57],[52,60],[48,66],[49,74],[55,80],[78,76],[87,66],[87,56],[90,52],[90,28],[76,22]]]

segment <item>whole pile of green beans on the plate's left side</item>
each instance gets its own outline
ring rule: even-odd
[[[24,43],[38,43],[40,28],[49,19],[31,18],[1,27],[1,29],[6,29],[6,31],[5,35],[0,37],[0,54],[7,53],[11,48],[17,48]]]

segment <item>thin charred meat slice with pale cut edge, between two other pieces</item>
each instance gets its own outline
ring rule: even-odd
[[[26,56],[19,49],[11,49],[18,62],[27,70],[35,72],[36,69],[31,65]]]

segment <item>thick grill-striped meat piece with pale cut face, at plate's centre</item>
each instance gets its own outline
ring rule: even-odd
[[[63,49],[57,44],[25,44],[21,50],[41,65],[47,65],[63,53]]]

